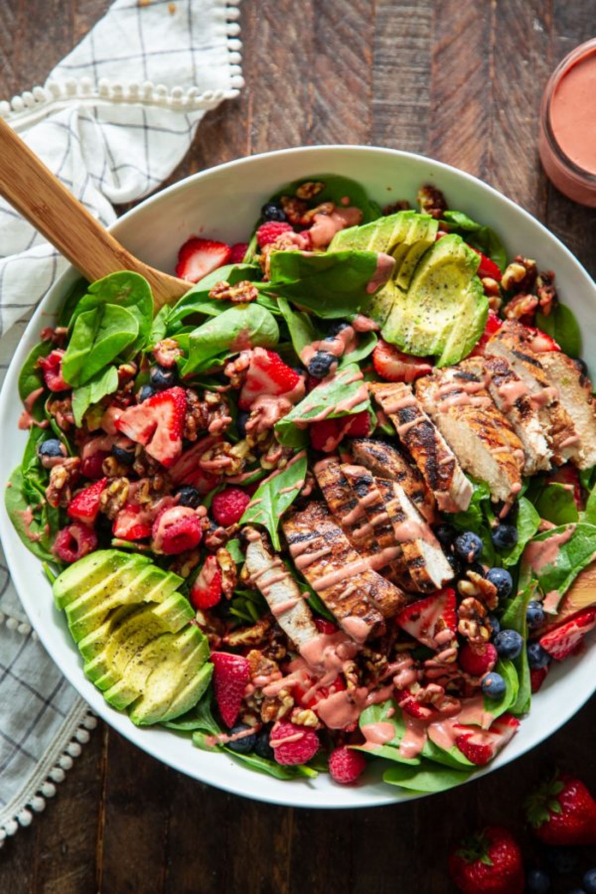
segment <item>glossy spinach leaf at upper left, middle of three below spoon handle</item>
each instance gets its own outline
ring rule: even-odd
[[[85,384],[111,363],[139,334],[137,316],[115,304],[100,304],[77,316],[63,357],[63,377]]]

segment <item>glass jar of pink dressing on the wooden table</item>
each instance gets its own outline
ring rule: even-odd
[[[538,148],[558,190],[596,207],[596,38],[577,46],[550,76]]]

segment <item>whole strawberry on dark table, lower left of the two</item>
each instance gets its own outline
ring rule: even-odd
[[[525,887],[522,854],[507,829],[489,826],[449,856],[449,873],[466,894],[522,894]]]

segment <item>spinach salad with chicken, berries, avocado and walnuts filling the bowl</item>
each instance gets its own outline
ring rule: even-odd
[[[434,186],[382,208],[335,173],[207,237],[155,316],[127,271],[64,296],[19,376],[13,526],[132,723],[280,780],[466,781],[596,627],[555,272]]]

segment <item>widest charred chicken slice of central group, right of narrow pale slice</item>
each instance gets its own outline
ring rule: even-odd
[[[407,604],[407,596],[358,554],[324,503],[291,512],[282,526],[294,564],[348,637],[364,643],[381,635],[384,621],[377,606],[394,591],[401,595],[401,606]],[[394,598],[397,602],[397,595]]]

